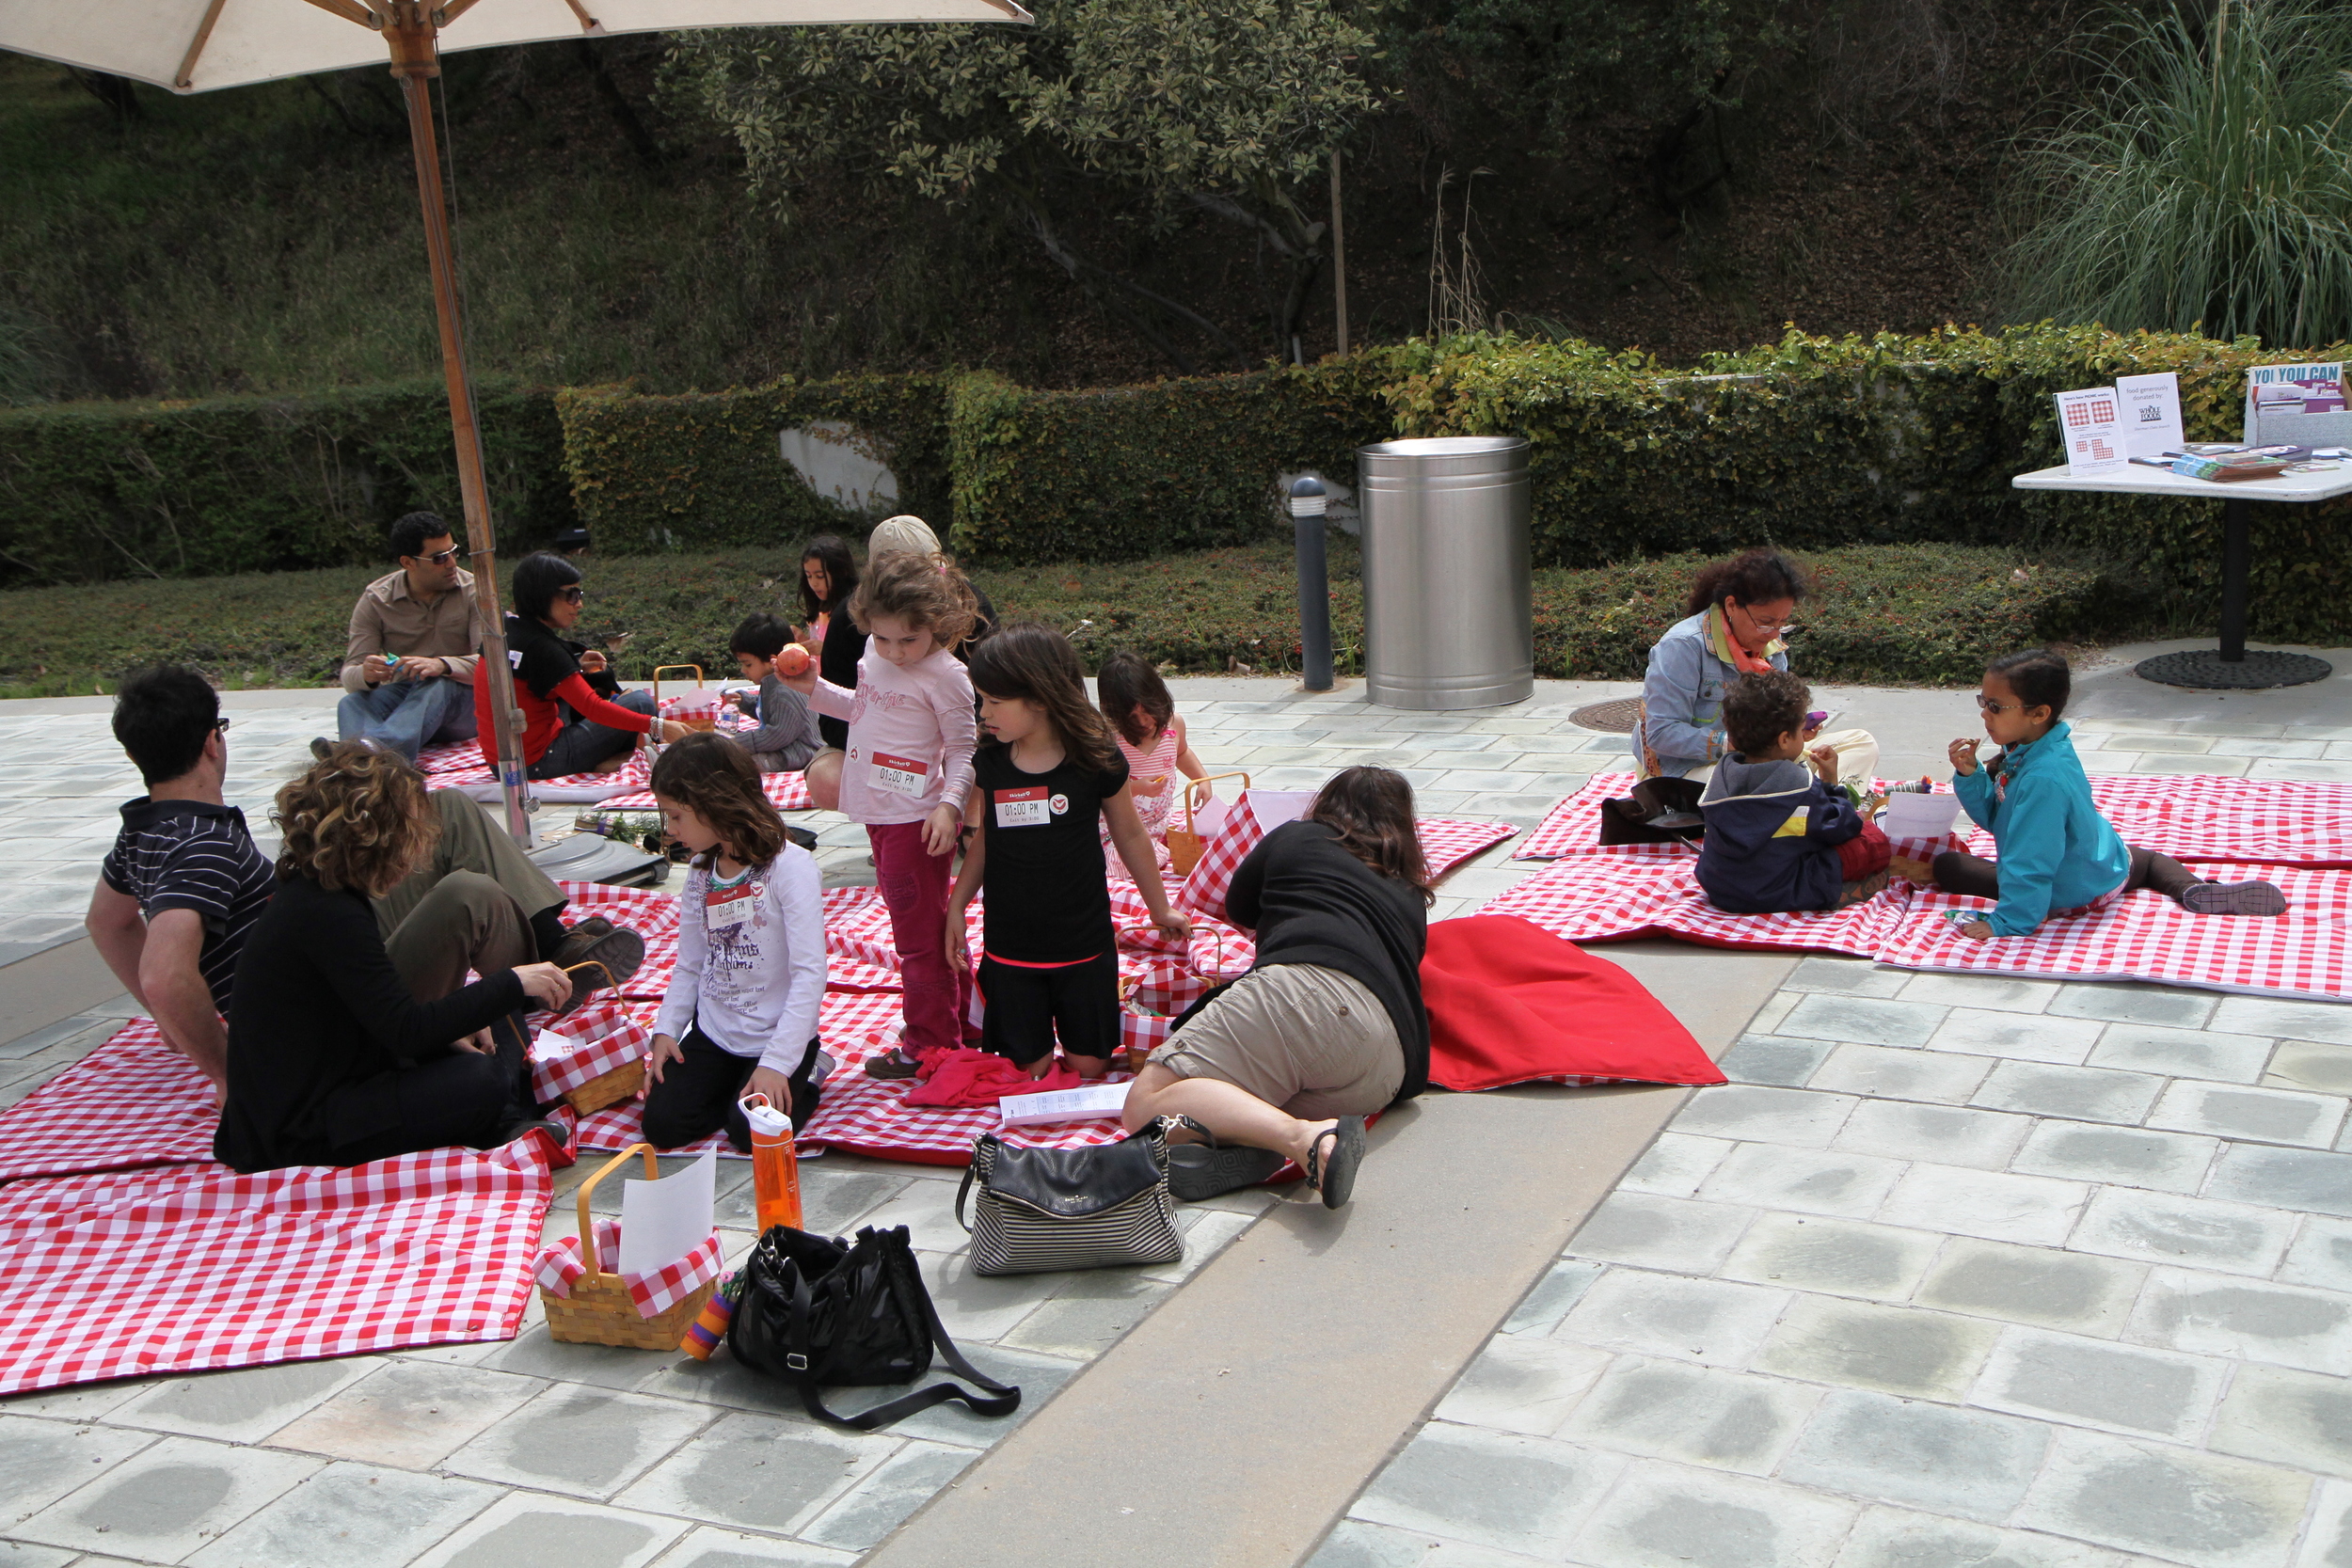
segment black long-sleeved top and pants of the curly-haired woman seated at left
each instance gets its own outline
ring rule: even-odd
[[[454,1039],[522,1004],[513,969],[419,1001],[383,952],[365,893],[289,877],[245,940],[212,1157],[238,1171],[334,1164],[334,1150],[390,1131],[397,1103],[379,1095],[374,1126],[348,1117],[329,1126],[327,1095],[447,1056]]]

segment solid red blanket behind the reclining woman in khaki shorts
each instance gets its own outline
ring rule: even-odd
[[[1724,1081],[1639,980],[1517,914],[1432,924],[1421,999],[1439,1088]]]

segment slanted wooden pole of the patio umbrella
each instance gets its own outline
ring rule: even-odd
[[[499,792],[506,797],[506,830],[517,844],[532,842],[532,818],[522,783],[522,715],[515,710],[515,670],[506,658],[506,616],[499,609],[499,534],[482,480],[482,430],[473,414],[473,371],[466,367],[466,334],[456,301],[456,259],[449,249],[449,202],[440,181],[440,141],[433,134],[428,82],[440,75],[433,14],[421,0],[379,0],[388,16],[383,38],[393,47],[393,75],[409,103],[409,150],[416,153],[416,197],[426,214],[426,261],[433,270],[433,313],[442,331],[442,374],[449,381],[449,435],[456,440],[456,484],[466,505],[466,545],[473,559],[473,592],[482,611],[482,658],[489,665],[489,708],[499,743]]]

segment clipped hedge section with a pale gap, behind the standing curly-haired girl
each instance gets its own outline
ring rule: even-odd
[[[776,440],[811,421],[847,421],[880,444],[898,505],[948,520],[948,378],[840,376],[771,381],[727,393],[635,395],[586,388],[557,395],[564,473],[600,550],[797,545],[811,534],[861,534],[870,522],[818,496]]]

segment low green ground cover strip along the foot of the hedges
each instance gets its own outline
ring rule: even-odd
[[[1637,679],[1649,644],[1682,618],[1705,557],[1536,571],[1536,672]],[[2037,642],[2114,637],[2147,625],[2131,583],[2070,562],[1962,545],[1860,545],[1806,555],[1818,597],[1795,658],[1809,679],[1969,684],[1985,658]],[[581,632],[633,632],[626,679],[654,665],[731,672],[727,632],[753,611],[793,616],[793,550],[590,557]],[[0,592],[0,698],[87,696],[151,663],[193,663],[223,686],[334,679],[343,625],[374,567],[92,583]],[[1136,649],[1183,675],[1296,672],[1298,599],[1284,543],[1120,564],[985,567],[974,581],[1000,616],[1070,635],[1094,668]],[[1355,541],[1331,541],[1331,625],[1343,675],[1364,668]]]

